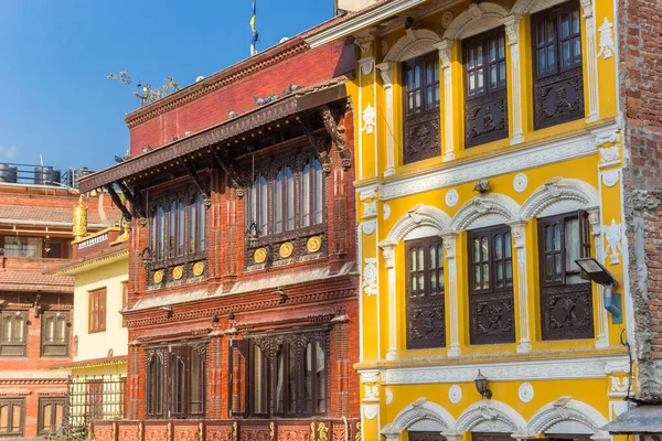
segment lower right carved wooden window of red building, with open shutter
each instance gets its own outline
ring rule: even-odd
[[[229,347],[231,417],[328,415],[327,332],[250,336]]]

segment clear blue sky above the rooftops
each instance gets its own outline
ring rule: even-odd
[[[332,0],[257,0],[258,51],[332,17]],[[128,71],[183,87],[249,55],[250,0],[2,0],[0,162],[111,165],[128,149]]]

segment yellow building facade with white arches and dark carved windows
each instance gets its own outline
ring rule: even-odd
[[[616,13],[394,0],[308,37],[359,53],[364,440],[607,440],[627,409]]]

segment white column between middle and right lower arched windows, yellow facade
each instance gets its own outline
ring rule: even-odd
[[[510,223],[511,233],[515,241],[515,254],[517,255],[517,304],[520,312],[520,343],[517,343],[517,353],[526,354],[531,352],[530,320],[528,320],[528,287],[526,273],[526,220],[516,220]]]

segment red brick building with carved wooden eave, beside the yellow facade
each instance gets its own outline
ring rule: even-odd
[[[131,204],[127,419],[107,440],[354,440],[351,42],[293,37],[126,117],[81,181]]]

